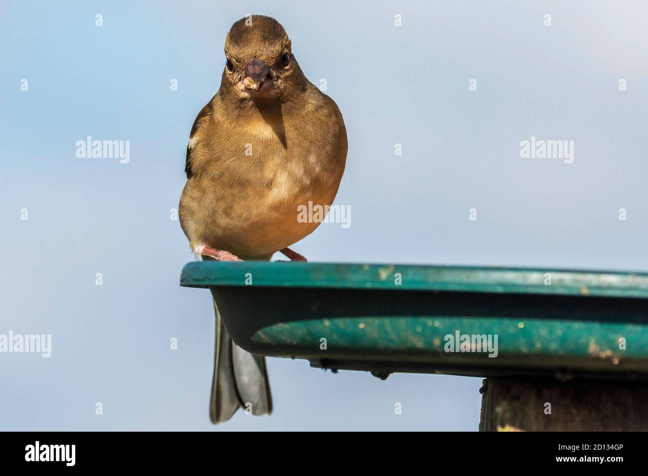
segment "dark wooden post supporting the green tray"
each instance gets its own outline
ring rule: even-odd
[[[487,378],[480,431],[648,431],[648,382]]]

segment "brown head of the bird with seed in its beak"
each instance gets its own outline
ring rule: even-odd
[[[288,98],[305,80],[281,24],[262,15],[238,20],[225,40],[221,88],[254,102]]]

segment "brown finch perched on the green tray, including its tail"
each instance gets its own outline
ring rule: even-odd
[[[270,260],[321,220],[299,219],[299,207],[327,207],[340,187],[347,132],[337,104],[305,76],[292,41],[275,19],[248,15],[231,26],[220,88],[189,135],[180,225],[196,259]],[[238,408],[272,413],[265,357],[234,343],[216,314],[209,403],[213,424]]]

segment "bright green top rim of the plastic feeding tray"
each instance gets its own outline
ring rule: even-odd
[[[400,273],[402,284],[395,284],[395,273]],[[544,284],[546,273],[551,274],[550,285]],[[247,277],[253,278],[253,286],[277,288],[462,291],[648,299],[648,273],[551,267],[196,261],[183,267],[180,286],[248,286]]]

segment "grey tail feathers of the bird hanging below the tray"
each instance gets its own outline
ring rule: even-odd
[[[254,356],[236,345],[214,302],[216,312],[216,351],[214,380],[211,385],[209,418],[213,424],[226,422],[243,407],[255,415],[272,412],[272,395],[266,370],[266,359]]]

